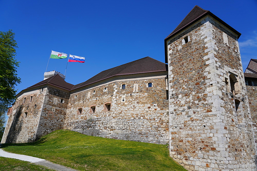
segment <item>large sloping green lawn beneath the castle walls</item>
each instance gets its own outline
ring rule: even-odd
[[[54,131],[35,143],[2,147],[78,170],[186,170],[169,157],[166,145],[87,136],[69,130]]]

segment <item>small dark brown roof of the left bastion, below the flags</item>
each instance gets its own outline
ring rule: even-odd
[[[48,79],[40,81],[39,83],[36,83],[33,86],[30,86],[30,87],[28,87],[26,89],[29,89],[29,88],[32,88],[32,87],[41,86],[41,85],[44,85],[44,84],[50,84],[52,86],[56,86],[56,87],[59,87],[59,88],[62,88],[62,89],[66,89],[66,90],[70,90],[74,86],[73,84],[70,84],[70,83],[67,83],[66,81],[64,81],[61,78],[61,76],[59,76],[59,74],[57,74],[57,75],[52,76],[52,77],[50,77]]]

